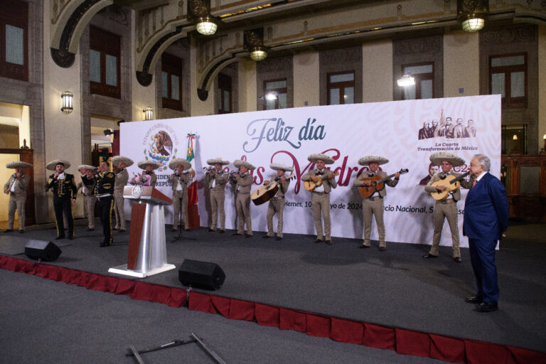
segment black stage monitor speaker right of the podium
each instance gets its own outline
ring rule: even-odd
[[[216,291],[225,281],[225,273],[216,263],[184,259],[178,269],[178,280],[185,286]]]

